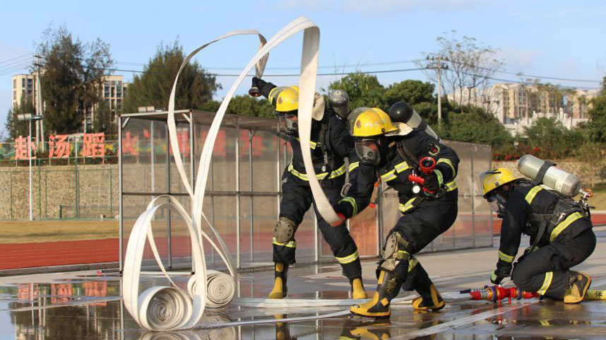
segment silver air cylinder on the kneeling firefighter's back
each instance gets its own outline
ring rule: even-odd
[[[543,164],[545,164],[545,161],[540,158],[533,155],[524,155],[518,160],[518,170],[522,175],[534,180]],[[575,197],[582,192],[581,180],[576,175],[555,166],[547,169],[542,184],[568,197]]]

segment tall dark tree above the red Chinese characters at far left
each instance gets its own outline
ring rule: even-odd
[[[85,113],[100,99],[102,76],[112,66],[109,45],[73,38],[65,26],[50,25],[37,45],[44,69],[40,75],[44,126],[48,133],[80,131]]]

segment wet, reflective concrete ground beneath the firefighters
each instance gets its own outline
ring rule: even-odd
[[[606,230],[597,228],[598,247],[578,269],[593,276],[593,289],[606,289]],[[526,241],[528,242],[528,241]],[[495,244],[498,244],[495,242]],[[497,261],[497,247],[422,254],[418,259],[442,292],[481,288]],[[374,291],[374,261],[364,262],[364,284]],[[242,298],[263,298],[273,273],[240,276]],[[159,279],[147,277],[150,286]],[[347,298],[348,283],[336,264],[295,266],[289,298]],[[407,295],[402,293],[401,296]],[[0,340],[3,339],[606,339],[606,301],[564,305],[521,300],[511,305],[483,301],[448,303],[441,312],[420,314],[410,305],[393,307],[391,320],[350,315],[296,323],[256,324],[191,332],[144,332],[121,303],[117,274],[79,271],[0,278]],[[214,320],[247,321],[310,316],[346,307],[251,308],[232,303]]]

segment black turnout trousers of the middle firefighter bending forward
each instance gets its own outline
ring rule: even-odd
[[[410,253],[408,265],[396,266],[393,274],[405,279],[403,291],[417,291],[421,295],[429,293],[432,281],[427,271],[413,256],[423,250],[435,238],[451,228],[458,213],[458,190],[448,192],[441,199],[423,201],[414,210],[403,213],[389,234],[399,232],[408,241],[406,251]],[[381,264],[376,272],[379,274]]]

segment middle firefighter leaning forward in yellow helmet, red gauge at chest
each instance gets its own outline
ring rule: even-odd
[[[347,197],[333,205],[335,212],[346,219],[362,211],[369,205],[374,183],[380,178],[398,192],[402,213],[389,232],[383,260],[376,269],[376,293],[368,303],[350,309],[366,317],[390,317],[390,301],[400,287],[421,295],[412,303],[415,310],[437,311],[445,305],[414,254],[448,230],[456,219],[458,190],[454,178],[459,159],[451,148],[427,133],[432,130],[404,124],[408,122],[403,119],[407,110],[412,111],[408,104],[398,102],[389,115],[376,107],[360,107],[349,117],[359,158],[351,166],[357,166],[358,172]]]

